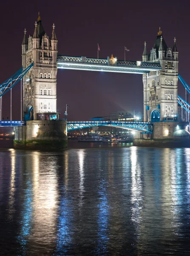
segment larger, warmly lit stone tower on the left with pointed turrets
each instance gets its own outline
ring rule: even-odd
[[[23,114],[27,120],[57,119],[57,37],[55,26],[51,38],[45,33],[40,13],[33,36],[22,43],[22,64],[25,69],[34,63],[23,78]]]

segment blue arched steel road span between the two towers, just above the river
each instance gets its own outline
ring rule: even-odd
[[[152,122],[122,122],[122,121],[71,121],[67,122],[67,131],[73,131],[82,128],[94,126],[111,126],[144,133],[153,132]]]

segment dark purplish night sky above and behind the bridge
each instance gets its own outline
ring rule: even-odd
[[[52,5],[53,4],[53,5]],[[179,51],[179,73],[190,84],[190,1],[4,1],[1,5],[0,83],[22,65],[21,44],[24,29],[34,33],[38,11],[43,27],[51,37],[52,25],[58,39],[58,53],[68,56],[99,58],[107,56],[142,61],[144,41],[147,50],[153,47],[159,26],[168,47],[173,38]],[[12,119],[20,119],[20,86],[14,95]],[[179,95],[184,88],[179,82]],[[3,117],[10,116],[10,94],[3,96]],[[78,70],[58,70],[57,111],[68,120],[88,120],[107,116],[113,111],[143,111],[142,75]]]

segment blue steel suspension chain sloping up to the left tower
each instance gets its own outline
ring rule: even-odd
[[[7,93],[15,84],[17,84],[23,76],[33,67],[33,63],[31,63],[25,70],[21,68],[18,70],[13,76],[0,84],[0,97],[2,97],[5,93]]]

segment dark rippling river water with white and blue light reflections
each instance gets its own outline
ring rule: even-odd
[[[190,148],[79,147],[0,151],[0,255],[190,255]]]

